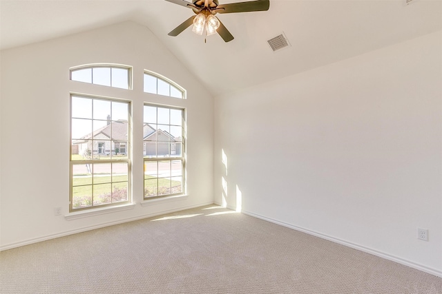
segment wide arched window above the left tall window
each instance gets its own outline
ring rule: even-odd
[[[95,85],[129,89],[131,67],[124,65],[86,65],[70,70],[70,79]]]

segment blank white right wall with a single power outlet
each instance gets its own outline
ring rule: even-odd
[[[441,110],[441,32],[216,97],[215,202],[442,276]]]

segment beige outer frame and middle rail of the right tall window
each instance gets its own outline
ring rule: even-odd
[[[177,106],[171,106],[171,105],[164,105],[164,104],[157,104],[157,103],[148,103],[148,102],[144,102],[143,104],[143,109],[144,106],[151,106],[151,107],[160,107],[160,108],[166,108],[166,109],[177,109],[177,110],[181,110],[182,111],[182,147],[181,147],[181,156],[171,156],[171,154],[169,154],[169,157],[145,157],[143,154],[143,167],[145,165],[145,162],[160,162],[160,161],[173,161],[173,160],[181,160],[182,161],[182,167],[181,167],[181,174],[182,174],[182,191],[179,193],[170,193],[170,194],[165,194],[165,195],[157,195],[157,196],[151,196],[146,198],[144,196],[144,184],[145,184],[145,178],[144,178],[144,172],[143,172],[143,202],[149,201],[149,200],[154,200],[154,199],[161,199],[161,198],[176,198],[177,196],[186,196],[186,189],[187,189],[187,185],[186,185],[186,149],[187,149],[187,109],[185,107],[177,107]],[[170,121],[169,121],[170,123]],[[170,124],[169,124],[170,125]],[[143,120],[143,127],[144,127],[144,120]],[[160,141],[162,142],[162,141]],[[143,143],[146,143],[146,141],[144,141],[143,138]],[[143,152],[144,152],[144,147],[143,147]],[[170,152],[170,150],[169,150]],[[159,177],[157,176],[157,179]],[[171,178],[173,178],[173,176],[171,176]]]

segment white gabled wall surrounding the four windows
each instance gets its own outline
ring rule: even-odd
[[[69,81],[69,67],[133,65],[132,91]],[[143,92],[143,70],[187,90],[180,100]],[[66,220],[69,200],[70,92],[128,99],[133,136],[142,138],[143,103],[186,107],[189,197],[143,199],[142,140],[133,145],[132,209]],[[120,23],[1,52],[1,249],[108,224],[213,203],[213,97],[143,26]],[[62,216],[55,216],[62,207]]]

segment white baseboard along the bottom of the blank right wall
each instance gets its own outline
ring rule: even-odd
[[[318,233],[316,231],[311,231],[309,229],[305,229],[305,228],[302,228],[302,227],[295,226],[294,224],[288,224],[287,222],[281,222],[279,220],[273,220],[273,218],[267,218],[265,216],[260,216],[260,215],[258,215],[256,213],[251,213],[250,211],[242,210],[241,213],[244,213],[247,216],[252,216],[253,218],[260,218],[261,220],[266,220],[267,222],[273,222],[273,224],[279,224],[282,227],[287,227],[289,229],[294,229],[294,230],[300,231],[302,233],[307,233],[309,235],[314,235],[316,237],[319,237],[319,238],[322,238],[322,239],[325,239],[325,240],[328,240],[328,241],[332,241],[334,243],[338,243],[338,244],[350,247],[352,249],[356,249],[356,250],[359,250],[359,251],[363,251],[365,253],[376,255],[376,256],[378,256],[380,258],[385,258],[386,260],[391,260],[392,262],[397,262],[398,264],[403,264],[405,266],[410,266],[413,269],[417,269],[417,270],[423,271],[425,273],[430,273],[431,275],[436,275],[438,277],[442,277],[442,271],[439,271],[438,269],[433,269],[433,268],[430,268],[428,266],[424,266],[422,264],[417,264],[417,263],[412,262],[410,260],[405,260],[403,258],[398,258],[397,256],[394,256],[394,255],[391,255],[391,254],[388,254],[388,253],[384,253],[382,251],[377,251],[375,249],[371,249],[371,248],[362,246],[360,244],[354,244],[352,242],[348,242],[348,241],[345,241],[345,240],[334,238],[334,237],[332,237],[330,235],[325,235],[323,233]]]

